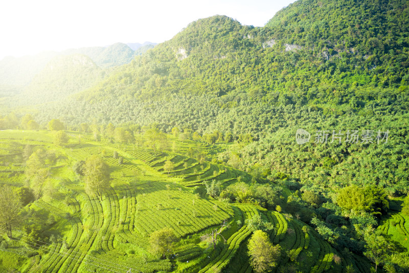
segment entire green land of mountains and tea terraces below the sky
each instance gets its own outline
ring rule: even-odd
[[[15,240],[3,224],[0,266],[257,272],[263,230],[265,272],[409,271],[408,14],[299,0],[265,27],[215,15],[6,82],[0,179],[33,191],[34,220]]]

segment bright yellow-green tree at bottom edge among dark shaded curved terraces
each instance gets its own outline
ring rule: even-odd
[[[256,230],[248,241],[250,264],[257,273],[268,272],[277,265],[280,257],[280,245],[273,246],[262,230]]]

